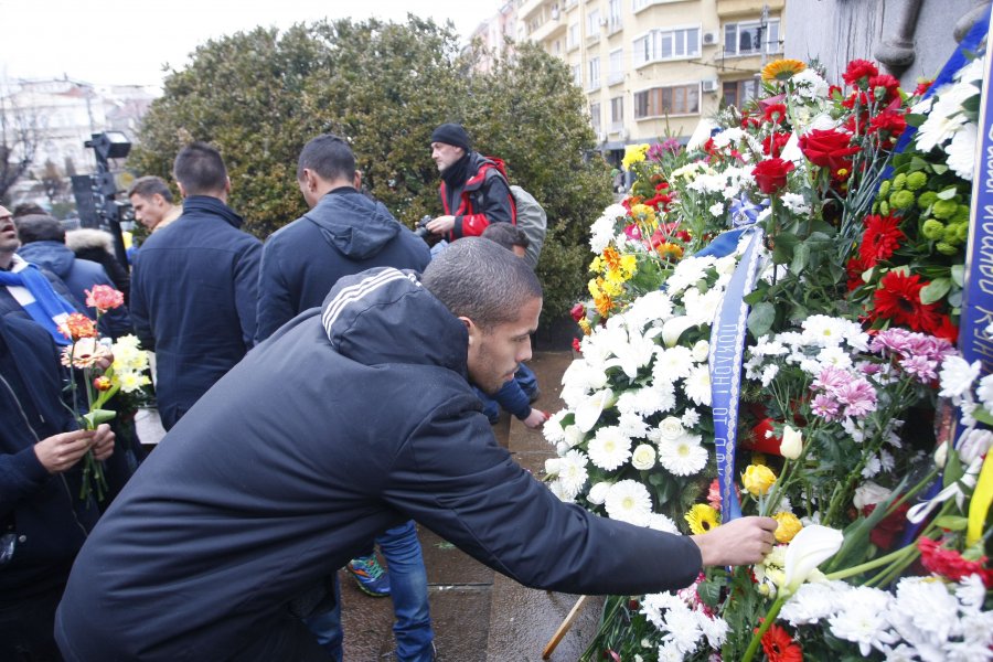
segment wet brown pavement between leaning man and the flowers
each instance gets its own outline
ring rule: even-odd
[[[545,412],[562,407],[562,374],[573,360],[569,351],[536,352],[528,365],[537,375],[542,396],[534,406]],[[531,430],[504,413],[493,426],[496,440],[536,476],[555,455],[541,431]],[[467,556],[437,535],[419,528],[428,575],[428,597],[438,648],[438,662],[531,662],[555,634],[579,596],[524,588]],[[344,572],[342,620],[344,662],[394,660],[393,607],[388,598],[361,592]],[[592,636],[600,602],[587,600],[553,654],[553,662],[575,662]]]

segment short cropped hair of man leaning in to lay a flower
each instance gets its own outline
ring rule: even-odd
[[[462,237],[438,254],[421,284],[456,317],[483,331],[517,319],[521,309],[542,297],[542,285],[527,263],[482,237]]]

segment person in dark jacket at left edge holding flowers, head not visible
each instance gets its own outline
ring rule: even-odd
[[[99,516],[79,460],[110,456],[114,434],[76,430],[65,376],[42,327],[0,316],[0,660],[60,660],[55,607]]]

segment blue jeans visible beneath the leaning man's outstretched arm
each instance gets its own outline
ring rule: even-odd
[[[386,559],[389,575],[389,597],[396,619],[393,636],[396,639],[396,659],[399,662],[430,662],[434,660],[435,632],[428,609],[427,572],[420,553],[420,541],[414,521],[401,524],[376,537],[376,544]],[[339,590],[338,583],[334,584]],[[335,660],[342,659],[341,596],[331,611],[307,619],[307,626],[318,641]]]

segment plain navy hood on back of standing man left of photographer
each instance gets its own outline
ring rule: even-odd
[[[325,193],[305,218],[321,228],[324,241],[353,259],[380,253],[402,229],[399,221],[361,193]]]

